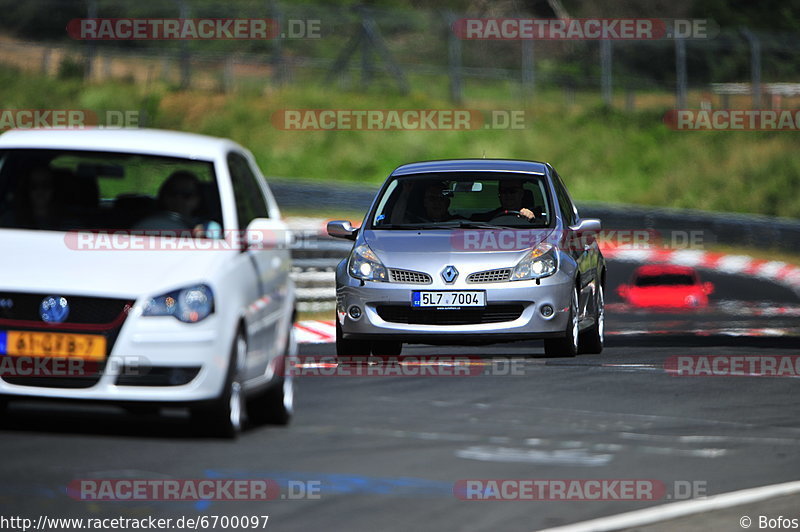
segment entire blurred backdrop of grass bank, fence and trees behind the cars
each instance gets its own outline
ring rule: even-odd
[[[800,216],[796,131],[674,131],[670,109],[800,107],[797,2],[0,1],[6,109],[137,111],[268,176],[376,185],[449,157],[551,162],[578,201]],[[269,40],[79,41],[76,18],[271,18]],[[709,37],[464,40],[462,17],[707,19]],[[283,109],[523,111],[523,129],[283,131]],[[370,188],[370,191],[372,189]],[[356,209],[358,210],[358,209]]]

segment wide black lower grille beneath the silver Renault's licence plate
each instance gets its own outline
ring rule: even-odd
[[[522,305],[488,305],[484,308],[414,309],[406,305],[378,305],[382,320],[411,325],[476,325],[514,321],[522,315]]]

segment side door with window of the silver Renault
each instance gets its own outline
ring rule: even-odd
[[[556,189],[556,197],[558,199],[558,208],[561,213],[561,219],[564,221],[566,227],[565,231],[569,230],[569,226],[574,226],[580,221],[578,216],[578,209],[572,202],[572,198],[567,192],[567,188],[561,181],[555,169],[553,172],[553,185]],[[597,262],[599,259],[599,250],[597,241],[594,238],[587,238],[584,235],[567,235],[566,241],[570,243],[569,253],[578,264],[579,271],[579,284],[580,290],[578,294],[578,303],[580,308],[581,318],[585,317],[590,309],[593,311],[594,294],[597,289]]]

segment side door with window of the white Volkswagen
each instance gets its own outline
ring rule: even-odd
[[[250,222],[259,219],[261,234],[275,237],[276,241],[270,243],[265,240],[264,245],[250,246],[242,251],[253,268],[257,286],[256,293],[248,295],[245,318],[248,329],[246,378],[250,379],[264,375],[269,361],[282,352],[285,331],[281,327],[287,322],[291,258],[289,250],[282,245],[286,226],[270,212],[270,203],[274,202],[268,201],[268,190],[259,182],[250,161],[234,151],[228,154],[227,162],[239,230],[244,232]],[[245,238],[243,235],[242,240]]]

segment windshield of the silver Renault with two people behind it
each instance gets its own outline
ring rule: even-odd
[[[384,189],[371,229],[549,227],[545,177],[508,172],[401,176]]]

